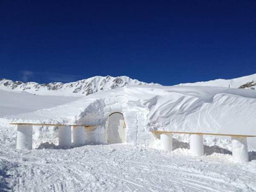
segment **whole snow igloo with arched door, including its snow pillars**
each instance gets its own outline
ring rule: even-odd
[[[190,134],[190,150],[195,156],[203,155],[203,135],[231,136],[233,155],[243,162],[248,161],[246,138],[256,136],[255,116],[255,91],[129,86],[20,114],[15,123],[19,123],[18,131],[24,130],[19,126],[24,123],[29,130],[35,123],[59,124],[61,147],[113,143],[153,146],[160,139],[160,147],[171,151],[172,134]],[[18,139],[31,136],[30,131],[21,132]],[[30,149],[29,142],[19,140],[19,149]]]

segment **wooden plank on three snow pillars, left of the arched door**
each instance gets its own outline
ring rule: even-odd
[[[58,126],[59,147],[71,147],[71,127],[73,127],[73,145],[79,147],[85,144],[86,131],[93,131],[98,125],[64,125],[64,124],[33,124],[10,123],[17,125],[17,149],[32,149],[33,126]]]

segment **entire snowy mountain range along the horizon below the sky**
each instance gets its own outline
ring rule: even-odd
[[[171,84],[171,82],[170,82]],[[131,85],[158,85],[157,83],[145,83],[132,79],[127,76],[94,76],[87,79],[71,83],[44,83],[35,82],[23,83],[12,81],[5,78],[0,79],[0,89],[5,91],[26,91],[36,95],[55,95],[55,96],[86,96],[99,91],[107,91]],[[230,88],[256,88],[256,73],[233,79],[216,79],[212,81],[202,81],[195,83],[180,83],[177,86],[219,86]]]

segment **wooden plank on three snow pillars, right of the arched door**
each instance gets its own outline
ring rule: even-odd
[[[151,131],[153,134],[160,135],[161,148],[172,151],[172,134],[190,134],[190,152],[195,156],[203,156],[203,135],[231,136],[232,156],[235,162],[248,162],[247,137],[255,135],[235,135],[235,134],[212,134],[196,132],[177,132],[177,131]]]

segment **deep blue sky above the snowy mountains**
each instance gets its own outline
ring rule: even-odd
[[[0,78],[173,85],[256,73],[256,0],[120,2],[1,0]]]

